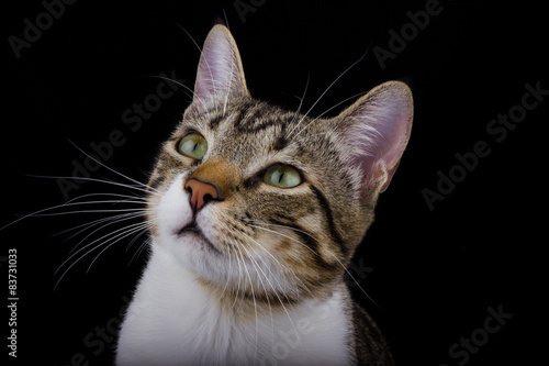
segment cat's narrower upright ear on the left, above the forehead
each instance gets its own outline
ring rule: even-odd
[[[226,26],[215,25],[200,56],[193,102],[206,103],[223,98],[248,96],[240,55]]]

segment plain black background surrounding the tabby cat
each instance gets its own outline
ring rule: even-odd
[[[45,8],[40,1],[4,4],[0,225],[18,214],[66,202],[55,179],[30,175],[71,176],[72,162],[86,156],[70,142],[92,153],[91,143],[120,130],[125,143],[104,163],[145,181],[159,143],[189,97],[181,89],[163,100],[135,132],[122,114],[156,93],[163,80],[155,76],[161,73],[173,71],[192,88],[200,54],[182,29],[201,46],[215,19],[226,18],[253,95],[291,109],[298,107],[307,77],[304,110],[370,45],[366,57],[311,112],[318,115],[386,80],[405,80],[414,91],[410,145],[356,256],[357,264],[369,268],[366,278],[357,276],[361,287],[383,310],[360,291],[355,295],[378,320],[400,365],[534,364],[544,353],[547,333],[541,325],[547,318],[541,306],[547,292],[541,277],[547,256],[541,159],[547,135],[541,131],[549,122],[549,97],[501,143],[486,126],[522,103],[526,84],[549,89],[546,10],[525,1],[441,0],[440,13],[382,68],[372,49],[390,51],[390,30],[400,33],[411,23],[406,12],[416,13],[427,2],[243,0],[256,5],[240,18],[235,1],[78,1],[66,5],[19,58],[9,36],[23,38],[24,19],[36,24]],[[478,141],[486,142],[490,155],[479,158],[429,210],[422,190],[436,190],[437,171],[448,174],[458,164],[455,155],[471,153]],[[128,182],[107,168],[91,177]],[[94,192],[127,190],[86,182],[69,196]],[[72,209],[78,208],[51,212]],[[124,297],[145,264],[144,254],[132,260],[138,244],[127,248],[131,239],[116,243],[87,271],[101,248],[91,252],[54,290],[60,278],[55,270],[83,237],[55,234],[104,215],[30,218],[0,231],[2,278],[8,248],[18,249],[21,364],[40,359],[44,365],[69,365],[77,354],[90,365],[112,362],[109,326],[115,326]],[[467,363],[461,356],[452,358],[450,346],[480,334],[489,307],[502,307],[513,318],[470,353]],[[4,314],[2,324],[8,323]],[[103,343],[96,342],[101,328],[107,329]],[[7,324],[4,329],[7,336]],[[92,345],[85,343],[88,336]],[[4,345],[2,350],[8,353]]]

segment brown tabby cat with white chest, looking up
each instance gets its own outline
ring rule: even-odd
[[[116,365],[392,365],[344,275],[412,119],[401,81],[332,119],[256,100],[214,25],[148,181],[150,256]]]

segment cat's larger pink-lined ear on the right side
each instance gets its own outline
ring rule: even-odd
[[[384,191],[399,166],[412,131],[412,91],[400,81],[384,82],[338,119],[341,143],[349,147],[348,162],[360,168],[367,190]]]

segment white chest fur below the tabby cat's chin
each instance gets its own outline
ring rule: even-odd
[[[238,303],[235,303],[237,307]],[[155,248],[122,325],[116,365],[350,365],[341,293],[242,322]]]

